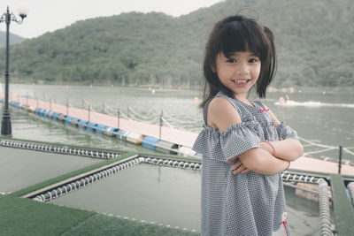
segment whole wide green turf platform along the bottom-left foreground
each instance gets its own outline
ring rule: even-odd
[[[0,195],[0,235],[199,235],[93,211]]]

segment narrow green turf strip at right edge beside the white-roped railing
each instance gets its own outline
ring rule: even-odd
[[[354,235],[354,210],[351,207],[342,176],[331,174],[333,209],[335,212],[335,228],[338,236]]]

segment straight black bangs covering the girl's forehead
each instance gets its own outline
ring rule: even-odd
[[[265,57],[266,45],[263,30],[257,25],[242,21],[229,22],[221,30],[221,48],[225,57],[231,57],[237,51],[250,51],[260,59]]]

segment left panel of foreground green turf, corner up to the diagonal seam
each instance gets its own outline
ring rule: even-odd
[[[94,212],[0,195],[0,235],[59,235]]]

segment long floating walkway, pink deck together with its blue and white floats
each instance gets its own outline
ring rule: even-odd
[[[74,126],[86,126],[96,132],[116,135],[121,139],[135,142],[136,144],[145,144],[146,147],[165,150],[170,154],[180,153],[184,156],[200,156],[200,154],[196,154],[191,149],[198,133],[178,130],[168,126],[142,123],[93,110],[48,103],[18,95],[12,95],[10,101],[12,106],[33,111],[43,117],[50,116],[54,119],[64,120]],[[144,138],[147,140],[143,141]],[[338,173],[338,163],[303,156],[292,162],[290,169]],[[354,176],[354,166],[352,164],[342,164],[341,173]]]

